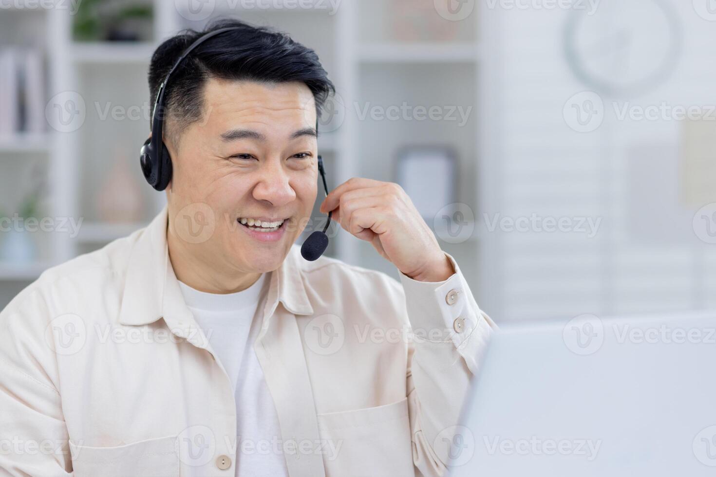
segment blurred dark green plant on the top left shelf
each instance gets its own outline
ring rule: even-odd
[[[151,4],[83,0],[74,18],[77,41],[150,41]]]

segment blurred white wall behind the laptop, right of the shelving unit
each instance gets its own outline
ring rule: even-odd
[[[601,219],[591,238],[576,232],[494,232],[483,254],[494,279],[483,306],[493,315],[558,318],[716,304],[710,293],[716,246],[699,240],[702,231],[692,227],[697,210],[716,202],[708,160],[693,167],[700,154],[713,159],[715,123],[687,124],[665,115],[657,121],[621,120],[613,105],[621,112],[625,105],[666,102],[703,107],[707,115],[708,106],[716,105],[716,22],[699,16],[692,1],[664,1],[668,16],[661,3],[602,0],[591,16],[505,9],[500,2],[488,9],[487,43],[498,47],[485,53],[496,65],[490,80],[499,86],[492,105],[495,134],[485,146],[494,152],[484,164],[492,174],[483,177],[494,197],[484,212],[490,218],[534,213]],[[674,34],[667,19],[678,26]],[[579,26],[569,39],[572,22]],[[609,92],[578,79],[567,60],[570,44],[581,51],[591,77],[621,83],[661,64],[672,46],[677,56],[667,78],[632,92]],[[603,100],[604,122],[594,131],[576,132],[568,124],[574,118],[563,108],[584,91]],[[716,120],[716,112],[710,119]],[[701,139],[694,139],[699,131]],[[705,177],[711,182],[702,181],[697,190],[695,180]]]

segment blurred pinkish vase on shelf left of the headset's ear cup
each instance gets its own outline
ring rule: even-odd
[[[104,222],[135,223],[142,220],[142,190],[130,169],[130,154],[115,147],[110,173],[97,195],[97,214]]]

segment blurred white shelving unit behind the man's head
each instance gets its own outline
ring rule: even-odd
[[[47,137],[0,139],[0,167],[25,154],[45,157],[49,180],[47,215],[83,217],[84,223],[77,237],[53,237],[46,260],[29,264],[22,272],[0,264],[0,289],[3,282],[33,280],[48,264],[68,260],[127,235],[142,227],[163,207],[163,193],[155,192],[143,183],[136,159],[140,144],[148,133],[148,121],[143,117],[134,122],[101,121],[95,109],[97,102],[105,98],[98,94],[123,106],[149,102],[146,71],[155,47],[180,29],[203,28],[216,16],[236,16],[252,24],[274,26],[316,49],[329,77],[337,85],[339,95],[347,103],[345,117],[337,129],[326,131],[323,124],[319,128],[322,129],[319,151],[326,159],[329,187],[354,176],[393,181],[393,162],[400,147],[451,144],[460,158],[458,202],[473,207],[477,217],[478,192],[475,191],[474,177],[480,143],[476,128],[479,104],[484,99],[480,82],[483,72],[480,68],[478,11],[473,11],[468,19],[454,22],[458,32],[455,38],[402,41],[395,37],[390,26],[390,2],[344,0],[337,11],[330,12],[325,9],[324,1],[315,1],[309,9],[279,8],[279,1],[263,2],[272,5],[269,9],[230,9],[228,5],[241,6],[241,2],[218,0],[213,14],[200,21],[190,20],[193,18],[191,12],[177,9],[177,3],[180,2],[153,0],[153,41],[137,44],[80,44],[72,39],[72,16],[68,11],[49,9],[32,13],[41,17],[45,26],[49,97],[59,92],[78,92],[84,97],[87,117],[82,127],[74,132],[49,129]],[[290,3],[296,4],[295,1]],[[435,11],[432,14],[437,16]],[[0,11],[0,21],[4,15],[6,13]],[[374,21],[379,18],[384,20]],[[378,29],[379,24],[382,29]],[[354,104],[387,106],[403,101],[427,106],[458,102],[471,107],[472,116],[465,127],[457,129],[447,122],[385,124],[360,119],[354,114]],[[107,174],[110,159],[107,151],[112,145],[125,148],[122,154],[126,154],[132,164],[142,201],[147,204],[147,217],[140,223],[107,224],[98,220],[92,210],[92,197],[97,184]],[[315,216],[321,217],[317,212]],[[478,242],[473,237],[463,244],[445,245],[445,249],[458,258],[468,280],[476,286]],[[329,252],[347,262],[395,275],[392,265],[377,256],[369,244],[344,232],[339,232],[332,240]],[[3,298],[0,295],[0,300]]]

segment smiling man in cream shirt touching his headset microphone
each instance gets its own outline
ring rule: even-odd
[[[402,286],[294,245],[333,90],[314,51],[219,21],[159,46],[153,100],[229,27],[165,84],[165,210],[0,314],[3,473],[437,476],[463,450],[493,323],[410,198],[352,179],[321,202]]]

